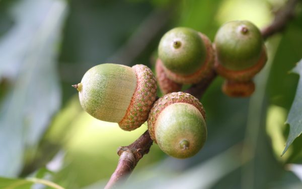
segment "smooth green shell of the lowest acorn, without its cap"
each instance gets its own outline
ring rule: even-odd
[[[160,113],[155,137],[160,148],[168,155],[188,158],[202,148],[206,133],[205,120],[195,106],[174,103]],[[187,143],[186,147],[182,146],[184,141]]]

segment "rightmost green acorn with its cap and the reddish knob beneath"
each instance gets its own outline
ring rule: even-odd
[[[259,29],[249,21],[222,25],[214,40],[215,70],[225,78],[222,91],[232,97],[248,97],[255,90],[253,77],[267,61]]]

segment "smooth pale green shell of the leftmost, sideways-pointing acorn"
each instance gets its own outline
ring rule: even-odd
[[[97,65],[82,78],[80,102],[97,119],[119,122],[126,114],[136,88],[136,75],[130,67],[116,64]]]

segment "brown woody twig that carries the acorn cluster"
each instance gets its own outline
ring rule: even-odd
[[[297,2],[297,0],[289,0],[288,4],[275,16],[274,21],[261,31],[264,39],[281,31],[285,27],[288,21],[292,18],[293,10]],[[213,71],[205,80],[198,84],[192,85],[185,92],[190,93],[197,98],[201,98],[216,76],[216,72]],[[142,156],[149,152],[149,148],[151,147],[152,143],[153,141],[151,140],[148,131],[146,131],[129,146],[120,147],[118,149],[120,159],[117,168],[112,174],[105,188],[112,188],[119,180],[126,179]]]

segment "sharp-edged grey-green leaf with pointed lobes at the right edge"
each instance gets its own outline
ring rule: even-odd
[[[297,66],[292,70],[293,73],[299,74],[299,83],[297,86],[296,95],[289,110],[286,123],[289,124],[289,135],[286,141],[286,146],[282,155],[286,152],[291,143],[302,133],[302,59],[298,62]]]

